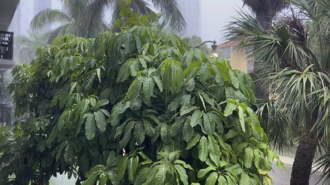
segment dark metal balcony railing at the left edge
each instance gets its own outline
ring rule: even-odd
[[[0,59],[12,60],[14,33],[0,31]]]

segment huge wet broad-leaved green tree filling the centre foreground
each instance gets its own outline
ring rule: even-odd
[[[251,108],[250,75],[162,32],[155,13],[122,12],[120,32],[66,35],[14,67],[15,114],[28,119],[1,138],[0,184],[57,173],[78,184],[272,184],[274,158],[283,164]]]

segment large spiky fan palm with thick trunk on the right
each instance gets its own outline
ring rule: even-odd
[[[246,12],[230,23],[229,40],[239,42],[256,61],[270,101],[259,115],[272,145],[283,149],[287,133],[297,134],[292,185],[309,184],[316,151],[330,149],[330,2],[292,0],[298,8],[266,32]],[[308,30],[308,32],[307,32]],[[328,154],[329,155],[329,154]],[[329,179],[329,156],[323,176]]]

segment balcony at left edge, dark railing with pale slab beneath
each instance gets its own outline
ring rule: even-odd
[[[14,66],[13,61],[14,33],[0,31],[0,73]]]

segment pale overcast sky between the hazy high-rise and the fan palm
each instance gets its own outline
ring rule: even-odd
[[[221,31],[242,6],[242,0],[201,0],[201,40],[223,42]]]

